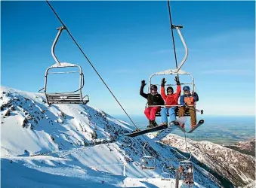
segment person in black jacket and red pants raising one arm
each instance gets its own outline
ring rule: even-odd
[[[150,93],[146,94],[143,92],[144,86],[146,86],[145,80],[141,81],[140,96],[147,99],[147,105],[165,105],[165,101],[162,96],[157,92],[157,86],[150,86]],[[157,126],[156,123],[156,112],[161,111],[161,107],[148,107],[145,109],[144,114],[150,121],[150,125],[147,128],[153,128]]]

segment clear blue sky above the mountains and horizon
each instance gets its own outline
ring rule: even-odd
[[[54,64],[51,44],[61,26],[46,2],[1,2],[2,85],[37,92]],[[143,114],[140,80],[175,68],[167,2],[51,2],[128,114]],[[254,2],[171,2],[174,24],[189,56],[182,69],[195,77],[205,114],[254,115]],[[175,32],[178,62],[184,47]],[[60,61],[81,65],[90,105],[124,114],[66,32],[56,47]],[[76,86],[77,77],[51,86]],[[160,80],[162,77],[159,77]],[[171,83],[174,77],[168,77]],[[187,78],[180,77],[180,80]],[[146,92],[146,89],[145,89]]]

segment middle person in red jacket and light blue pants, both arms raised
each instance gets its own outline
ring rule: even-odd
[[[169,114],[169,118],[170,118],[170,122],[176,120],[176,106],[173,107],[168,107],[166,105],[177,105],[177,100],[180,97],[180,92],[181,92],[181,88],[180,88],[180,81],[178,80],[177,77],[175,77],[175,81],[177,84],[177,91],[176,93],[174,93],[174,89],[171,86],[168,86],[168,88],[166,89],[167,91],[167,95],[165,95],[165,78],[162,78],[162,83],[161,83],[161,96],[162,99],[165,100],[165,108],[162,108],[161,110],[161,117],[162,117],[162,125],[167,125],[168,124],[168,120],[167,120],[167,114]]]

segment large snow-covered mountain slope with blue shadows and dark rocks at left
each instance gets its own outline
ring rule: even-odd
[[[174,187],[175,172],[166,166],[186,159],[147,135],[126,137],[127,123],[88,105],[48,105],[42,94],[4,86],[0,105],[2,187]],[[140,167],[146,141],[155,170]],[[160,178],[164,165],[171,180]],[[221,186],[196,163],[194,180],[194,187]]]

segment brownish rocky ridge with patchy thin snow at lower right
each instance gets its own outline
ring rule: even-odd
[[[168,135],[162,140],[177,149],[186,151],[185,140],[177,135]],[[234,186],[245,186],[255,180],[255,158],[236,150],[214,144],[209,141],[193,141],[187,138],[187,147],[199,162],[210,168],[212,174],[221,174],[222,183],[230,180]],[[217,177],[215,175],[215,177]]]

